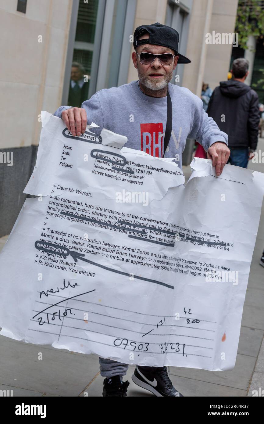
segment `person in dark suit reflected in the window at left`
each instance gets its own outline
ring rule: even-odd
[[[81,107],[84,100],[88,100],[89,80],[87,81],[87,77],[83,65],[72,62],[68,106]]]

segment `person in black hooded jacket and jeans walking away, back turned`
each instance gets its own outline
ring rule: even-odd
[[[231,151],[228,163],[247,167],[258,142],[258,95],[245,84],[249,62],[244,58],[233,61],[230,81],[220,82],[214,89],[207,113],[221,131],[228,134]]]

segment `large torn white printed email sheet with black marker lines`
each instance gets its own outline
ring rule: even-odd
[[[27,198],[0,255],[0,335],[123,363],[231,370],[264,175],[72,137],[43,114]],[[121,149],[122,147],[122,149]],[[121,150],[120,150],[121,149]]]

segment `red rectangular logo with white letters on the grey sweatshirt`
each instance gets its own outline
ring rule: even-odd
[[[141,150],[154,157],[162,157],[163,124],[140,124]]]

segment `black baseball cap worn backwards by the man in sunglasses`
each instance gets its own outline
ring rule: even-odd
[[[139,38],[145,33],[149,33],[150,38],[139,40]],[[169,47],[175,50],[176,56],[179,56],[178,63],[191,63],[190,59],[178,53],[179,44],[179,33],[167,26],[162,25],[159,22],[151,25],[140,25],[134,32],[133,46],[136,47],[142,44],[156,44],[158,46]]]

